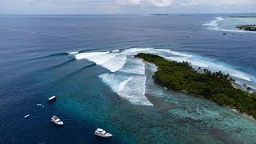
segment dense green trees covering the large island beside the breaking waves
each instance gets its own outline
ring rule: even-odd
[[[256,94],[235,89],[232,86],[234,79],[229,74],[222,74],[221,71],[212,73],[206,69],[199,73],[188,62],[170,62],[154,54],[140,53],[135,57],[158,66],[153,78],[159,85],[201,95],[218,105],[230,106],[256,118]]]

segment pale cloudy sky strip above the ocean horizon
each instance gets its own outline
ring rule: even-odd
[[[0,0],[0,14],[255,13],[256,0]]]

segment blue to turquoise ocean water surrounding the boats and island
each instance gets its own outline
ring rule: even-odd
[[[253,87],[256,34],[204,25],[228,16],[1,15],[0,143],[256,142],[254,121],[205,99],[155,86],[152,66],[145,66],[145,95],[154,106],[143,106],[118,96],[110,86],[113,79],[102,80],[102,74],[112,74],[104,66],[69,54],[148,47],[174,50],[191,54],[192,64],[205,60],[221,66],[212,69],[237,70],[235,74],[248,76]],[[114,79],[130,76],[114,74],[118,75]],[[49,104],[46,99],[52,95],[58,98]],[[23,118],[26,114],[30,118]],[[54,114],[64,126],[53,126]],[[95,138],[97,127],[114,138]]]

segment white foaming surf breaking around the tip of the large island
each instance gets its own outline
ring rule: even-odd
[[[251,84],[255,82],[254,76],[226,63],[186,52],[154,48],[130,48],[106,52],[71,52],[70,54],[74,55],[77,60],[87,59],[109,70],[98,77],[121,98],[125,98],[135,105],[153,106],[145,95],[145,63],[141,59],[134,58],[134,55],[138,53],[158,54],[170,61],[190,62],[194,68],[200,67],[201,70],[204,68],[213,72],[221,70],[224,74],[230,74],[235,78],[238,84],[246,83],[248,86],[254,86]]]

